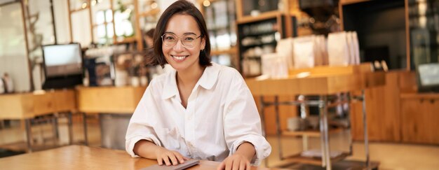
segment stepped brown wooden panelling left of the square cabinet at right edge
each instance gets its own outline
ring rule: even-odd
[[[416,81],[410,71],[386,73],[386,85],[365,90],[367,132],[370,141],[401,141],[400,93],[414,90]],[[360,92],[353,92],[360,94]],[[351,104],[351,134],[353,140],[364,139],[362,103]]]

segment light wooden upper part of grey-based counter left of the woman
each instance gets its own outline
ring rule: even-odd
[[[77,87],[78,110],[84,113],[134,112],[147,87]]]

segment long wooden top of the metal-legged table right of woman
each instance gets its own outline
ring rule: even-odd
[[[254,96],[337,94],[380,86],[384,85],[385,82],[384,72],[334,73],[311,75],[305,78],[290,77],[265,80],[253,78],[245,80]]]

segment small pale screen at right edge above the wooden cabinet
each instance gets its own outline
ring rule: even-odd
[[[418,91],[439,92],[439,63],[419,64]]]

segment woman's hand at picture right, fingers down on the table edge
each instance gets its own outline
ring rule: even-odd
[[[219,164],[217,170],[250,170],[250,161],[244,155],[235,153]]]

